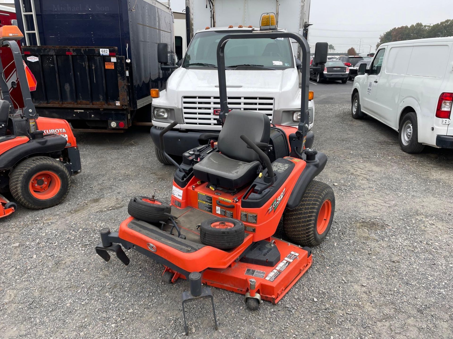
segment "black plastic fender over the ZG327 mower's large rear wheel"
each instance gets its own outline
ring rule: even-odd
[[[311,181],[324,169],[327,163],[327,155],[322,152],[318,152],[316,160],[313,162],[307,162],[304,171],[300,174],[294,185],[293,192],[289,196],[286,208],[290,210],[299,206],[304,196],[305,190]]]

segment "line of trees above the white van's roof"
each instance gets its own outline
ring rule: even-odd
[[[382,34],[376,45],[376,49],[379,45],[386,42],[451,36],[453,36],[452,19],[448,19],[434,25],[417,23],[410,26],[394,27]]]

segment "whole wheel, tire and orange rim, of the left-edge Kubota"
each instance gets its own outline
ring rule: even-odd
[[[58,205],[71,188],[67,168],[48,156],[34,156],[19,163],[10,176],[10,190],[22,206],[43,209]]]

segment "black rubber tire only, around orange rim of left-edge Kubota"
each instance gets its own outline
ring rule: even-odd
[[[61,188],[52,198],[37,199],[31,193],[29,184],[40,171],[52,171],[61,180]],[[10,192],[22,206],[43,209],[62,202],[71,188],[71,176],[67,168],[58,160],[48,156],[34,156],[23,160],[14,168],[10,176]]]

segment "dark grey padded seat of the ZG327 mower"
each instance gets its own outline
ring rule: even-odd
[[[270,121],[264,113],[232,110],[218,138],[220,153],[213,152],[193,166],[197,179],[224,188],[240,188],[256,178],[258,155],[241,139],[269,143]]]

